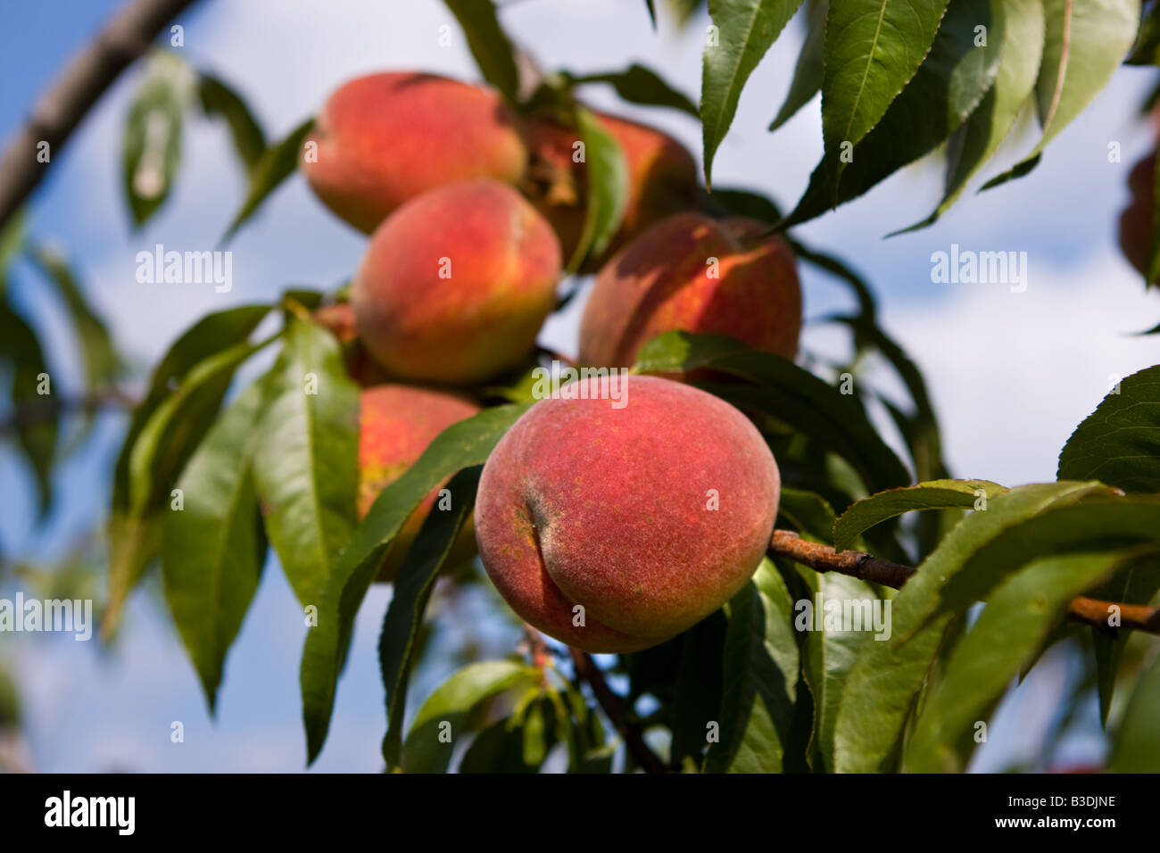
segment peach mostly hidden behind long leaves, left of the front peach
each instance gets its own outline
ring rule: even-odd
[[[465,399],[408,385],[375,385],[360,396],[358,414],[358,518],[364,518],[379,492],[401,477],[436,435],[479,411]],[[444,484],[445,485],[445,484]],[[423,498],[399,530],[379,569],[378,580],[393,580],[403,558],[438,497],[438,489]],[[452,545],[449,564],[474,552],[470,522]]]

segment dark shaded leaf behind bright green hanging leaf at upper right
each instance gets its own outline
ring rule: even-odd
[[[851,1],[849,5],[860,3]],[[945,6],[945,0],[942,5]],[[977,26],[989,30],[985,48],[976,46],[973,28]],[[848,162],[839,164],[838,154],[827,143],[822,161],[810,176],[802,201],[782,226],[805,222],[858,197],[955,132],[994,82],[1002,44],[1001,26],[1001,20],[991,19],[991,0],[952,3],[914,79],[872,130],[868,129],[857,139],[841,137],[854,146],[853,159]],[[824,95],[824,117],[825,109]],[[841,172],[841,183],[836,183],[835,168]]]

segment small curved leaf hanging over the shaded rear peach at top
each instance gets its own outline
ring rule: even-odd
[[[579,269],[586,258],[596,258],[608,247],[621,227],[629,201],[629,166],[619,143],[592,111],[577,107],[575,116],[588,165],[588,208],[583,233],[568,261],[570,272]]]

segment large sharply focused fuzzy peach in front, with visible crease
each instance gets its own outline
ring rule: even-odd
[[[611,382],[624,383],[621,407]],[[524,621],[585,651],[637,651],[746,584],[778,494],[769,447],[728,403],[652,376],[586,377],[496,444],[476,540]]]

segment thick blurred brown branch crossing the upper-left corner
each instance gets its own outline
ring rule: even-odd
[[[50,162],[106,89],[150,43],[195,0],[130,0],[100,35],[80,51],[32,106],[0,157],[0,226],[20,209],[44,178],[37,145],[49,144]]]

